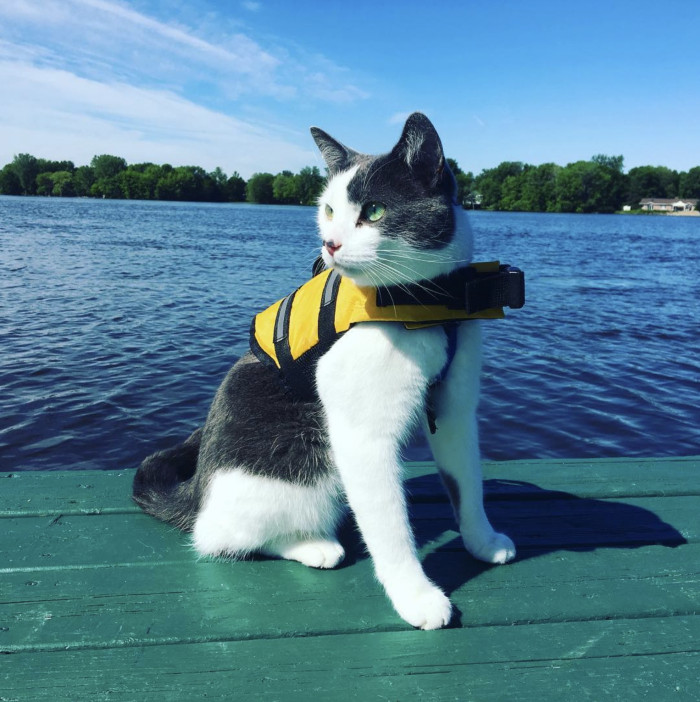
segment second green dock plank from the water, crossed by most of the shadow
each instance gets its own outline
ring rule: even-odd
[[[679,544],[700,536],[695,497],[497,501],[487,511],[521,549]],[[421,546],[437,540],[461,549],[446,503],[419,503],[412,512]],[[5,569],[194,558],[185,535],[141,512],[8,517],[0,554]]]

